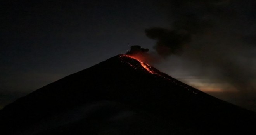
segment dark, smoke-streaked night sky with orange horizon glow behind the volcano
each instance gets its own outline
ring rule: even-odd
[[[256,110],[255,7],[254,0],[1,2],[0,108],[140,45],[164,73]]]

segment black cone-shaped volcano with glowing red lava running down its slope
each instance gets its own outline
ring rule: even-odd
[[[250,135],[256,114],[125,54],[0,110],[1,135]]]

